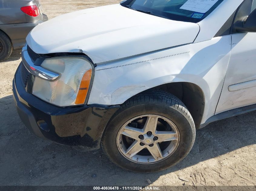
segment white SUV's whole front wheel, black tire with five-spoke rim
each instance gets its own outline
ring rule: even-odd
[[[105,128],[101,146],[120,167],[155,172],[185,158],[194,139],[194,121],[181,100],[148,90],[121,105]]]

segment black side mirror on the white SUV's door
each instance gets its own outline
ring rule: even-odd
[[[256,32],[256,9],[244,18],[241,27],[236,27],[237,32]]]

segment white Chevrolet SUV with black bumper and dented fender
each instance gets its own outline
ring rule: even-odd
[[[127,0],[58,16],[26,38],[13,82],[36,135],[168,168],[195,130],[256,108],[255,0]]]

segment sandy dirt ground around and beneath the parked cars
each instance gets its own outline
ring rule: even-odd
[[[41,0],[49,19],[119,0]],[[256,185],[256,112],[197,131],[194,147],[178,165],[141,174],[112,164],[101,150],[80,153],[32,135],[18,117],[12,79],[21,49],[0,62],[0,185]],[[97,174],[97,177],[92,177]]]

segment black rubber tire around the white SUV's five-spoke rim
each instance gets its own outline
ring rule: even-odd
[[[118,149],[117,136],[121,127],[130,119],[145,114],[156,114],[171,120],[178,128],[180,139],[178,147],[170,156],[159,162],[139,164],[121,154],[120,148]],[[108,158],[118,166],[134,172],[149,173],[164,170],[177,164],[189,153],[194,140],[194,121],[184,103],[165,91],[148,90],[121,104],[103,132],[101,147]]]

